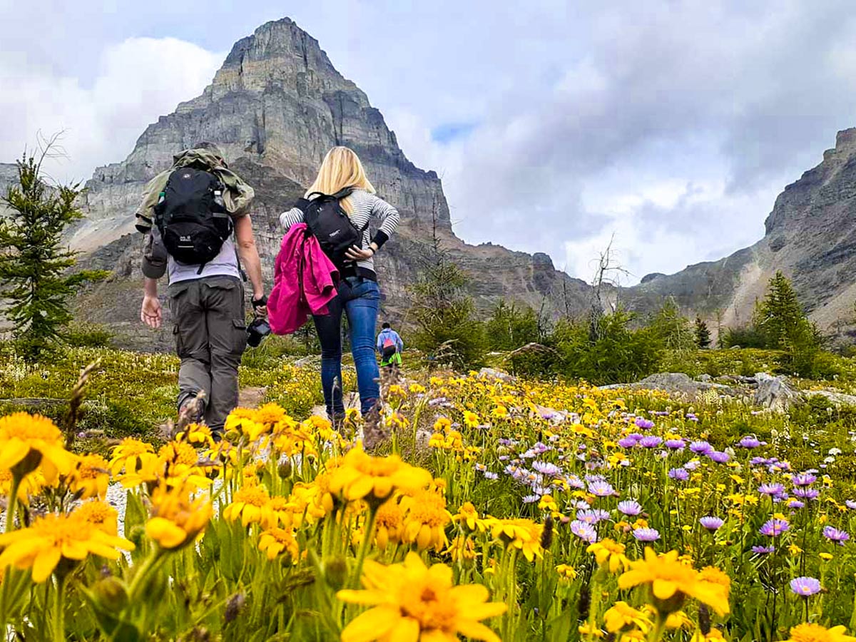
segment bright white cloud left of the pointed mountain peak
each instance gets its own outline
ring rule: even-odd
[[[46,165],[59,181],[85,180],[99,164],[121,161],[146,126],[199,95],[223,61],[174,38],[129,38],[104,47],[90,86],[0,53],[0,161],[21,157],[37,132],[63,131],[68,158]]]

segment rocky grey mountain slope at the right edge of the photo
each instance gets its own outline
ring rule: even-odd
[[[651,275],[621,292],[628,306],[650,310],[664,296],[726,325],[747,323],[767,282],[792,279],[806,312],[821,330],[853,324],[856,300],[856,128],[838,133],[823,162],[779,194],[761,241],[673,275]]]

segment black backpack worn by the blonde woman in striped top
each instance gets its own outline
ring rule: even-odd
[[[312,192],[310,198],[297,201],[297,207],[303,211],[303,221],[308,231],[318,239],[318,244],[324,250],[324,254],[340,270],[348,260],[345,253],[348,247],[362,247],[363,234],[369,223],[360,229],[351,221],[348,212],[342,209],[340,200],[351,192],[353,187],[346,187],[335,194],[324,194]],[[311,197],[315,198],[312,199]]]

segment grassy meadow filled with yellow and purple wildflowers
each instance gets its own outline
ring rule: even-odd
[[[315,367],[270,351],[241,370],[261,405],[214,443],[161,427],[173,357],[2,356],[15,639],[856,639],[853,407],[413,371],[384,383],[366,452],[356,414],[310,416]],[[796,383],[849,391],[835,359]],[[681,360],[750,374],[776,353]]]

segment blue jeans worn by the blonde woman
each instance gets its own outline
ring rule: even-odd
[[[375,358],[375,326],[380,306],[377,283],[362,276],[348,276],[339,283],[339,294],[330,301],[330,312],[313,315],[318,341],[321,342],[321,387],[324,404],[332,419],[345,413],[342,403],[342,312],[348,315],[351,332],[351,354],[357,369],[357,389],[360,390],[360,411],[365,416],[377,403],[380,373]],[[339,384],[336,386],[336,377]]]

